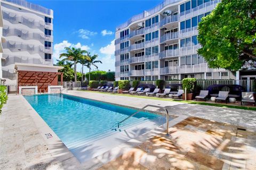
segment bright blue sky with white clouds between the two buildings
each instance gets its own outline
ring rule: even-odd
[[[115,71],[115,28],[133,15],[155,7],[158,1],[29,1],[53,10],[53,59],[76,47],[98,54],[99,70]],[[81,72],[81,65],[77,71]],[[85,72],[88,70],[84,67]],[[93,68],[95,70],[95,68]]]

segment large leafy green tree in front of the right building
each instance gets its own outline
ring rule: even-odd
[[[255,67],[255,0],[222,0],[198,24],[202,55],[211,68],[239,70],[244,64]]]

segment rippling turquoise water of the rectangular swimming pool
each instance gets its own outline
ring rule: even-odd
[[[117,128],[118,122],[136,112],[131,108],[63,94],[24,97],[68,148],[78,140]],[[163,116],[140,112],[122,126],[157,118]]]

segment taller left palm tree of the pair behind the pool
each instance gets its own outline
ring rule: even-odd
[[[60,58],[65,57],[62,61],[71,61],[74,62],[74,71],[75,71],[75,82],[76,82],[76,64],[84,54],[87,53],[86,50],[82,50],[81,48],[74,48],[74,47],[65,47],[66,53],[60,54]],[[88,60],[89,57],[87,57]]]

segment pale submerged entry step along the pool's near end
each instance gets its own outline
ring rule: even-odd
[[[148,122],[148,121],[152,121],[152,120],[145,119],[145,118],[139,118],[138,121],[135,121],[131,124],[121,126],[119,129],[114,128],[114,129],[106,130],[106,131],[103,131],[103,132],[99,132],[99,133],[96,133],[96,134],[91,135],[89,137],[78,139],[77,141],[74,141],[74,142],[71,142],[71,143],[66,143],[66,146],[68,147],[69,150],[74,150],[74,149],[77,149],[79,147],[83,147],[85,145],[88,145],[91,142],[97,141],[97,140],[102,139],[102,138],[109,137],[110,135],[113,135],[115,133],[119,133],[119,132],[124,131],[126,129],[132,128],[135,125],[139,125],[141,123],[145,123],[145,122]]]

